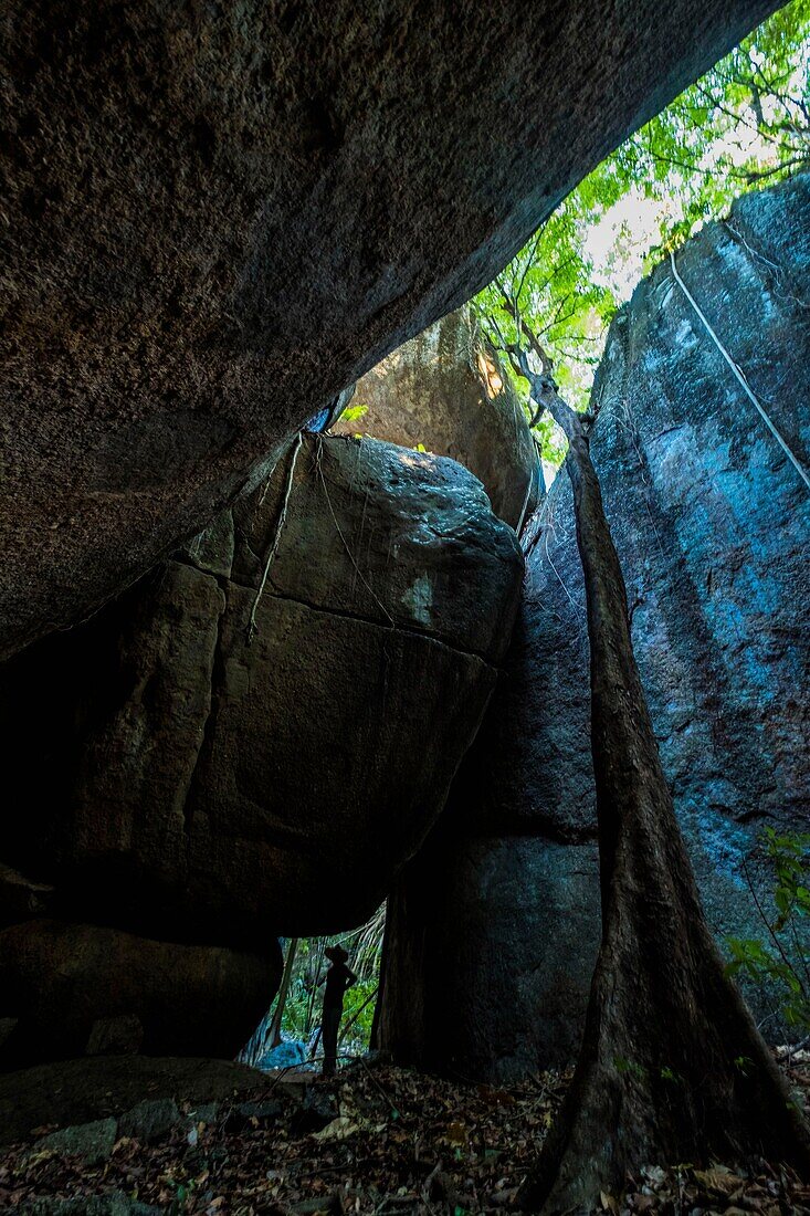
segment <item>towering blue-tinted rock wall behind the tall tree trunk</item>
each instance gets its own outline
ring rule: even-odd
[[[808,468],[810,178],[742,198],[677,270]],[[743,858],[765,824],[806,831],[810,798],[810,495],[668,261],[615,319],[594,400],[636,657],[707,916],[720,940],[763,939]],[[564,474],[524,547],[506,674],[392,900],[381,1028],[400,1058],[499,1080],[575,1053],[600,935]]]

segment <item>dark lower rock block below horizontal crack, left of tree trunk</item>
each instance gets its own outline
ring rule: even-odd
[[[488,1082],[569,1063],[596,957],[595,896],[591,844],[477,837],[461,815],[443,818],[388,897],[377,1046]]]

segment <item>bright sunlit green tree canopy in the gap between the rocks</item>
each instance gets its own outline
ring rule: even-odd
[[[809,167],[810,0],[793,0],[607,157],[476,298],[527,417],[527,384],[507,355],[521,339],[516,314],[553,360],[562,396],[584,409],[630,278],[744,190]],[[547,415],[535,429],[559,465],[558,429]]]

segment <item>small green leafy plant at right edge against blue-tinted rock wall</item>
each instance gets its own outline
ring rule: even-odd
[[[766,930],[764,940],[727,938],[726,970],[777,993],[788,1026],[810,1034],[810,833],[765,828],[759,860],[774,880],[772,911],[763,907],[746,866],[746,878]]]

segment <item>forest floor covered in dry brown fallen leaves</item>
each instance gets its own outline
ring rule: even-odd
[[[783,1066],[797,1100],[810,1109],[810,1053]],[[524,1086],[494,1088],[365,1062],[328,1081],[269,1075],[251,1103],[220,1103],[209,1122],[186,1119],[157,1137],[122,1136],[95,1166],[38,1149],[36,1142],[11,1145],[0,1156],[0,1212],[505,1211],[513,1207],[566,1083],[566,1075],[544,1074]],[[97,1206],[92,1197],[105,1195],[118,1206]],[[603,1195],[601,1209],[615,1216],[810,1214],[810,1187],[760,1161],[747,1170],[652,1164],[624,1195]]]

